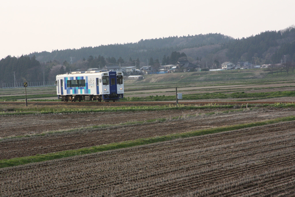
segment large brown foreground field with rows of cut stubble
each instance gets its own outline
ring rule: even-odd
[[[295,195],[295,121],[0,169],[2,196]]]

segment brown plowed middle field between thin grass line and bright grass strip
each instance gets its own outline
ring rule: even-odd
[[[267,110],[263,112],[269,113]],[[185,118],[181,120],[168,121],[162,123],[154,123],[148,125],[131,125],[106,130],[83,131],[73,133],[63,133],[56,135],[46,135],[32,138],[24,138],[24,140],[0,141],[0,159],[9,159],[13,157],[29,156],[35,154],[45,154],[63,150],[71,150],[83,147],[97,146],[100,144],[121,142],[133,140],[137,138],[147,138],[160,135],[168,135],[171,133],[179,133],[183,131],[197,130],[225,124],[235,124],[240,121],[255,121],[254,117],[257,113],[260,116],[263,112],[259,110],[235,112],[231,114],[214,114],[204,117]],[[271,110],[273,112],[273,110]],[[174,114],[174,112],[172,113]],[[195,114],[195,112],[193,112]],[[278,114],[278,113],[277,113]],[[168,113],[165,114],[168,116]],[[266,116],[266,115],[265,115]],[[227,122],[229,119],[235,120]],[[218,122],[216,120],[219,120]],[[266,131],[263,131],[266,132]],[[263,133],[262,132],[262,133]],[[262,135],[259,133],[257,135]],[[235,138],[235,134],[227,135],[228,140]],[[169,149],[169,148],[168,148]]]

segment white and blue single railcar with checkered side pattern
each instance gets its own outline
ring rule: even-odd
[[[56,76],[56,92],[62,101],[118,101],[124,95],[123,73],[83,71]]]

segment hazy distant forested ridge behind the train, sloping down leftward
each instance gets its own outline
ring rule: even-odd
[[[141,62],[146,62],[146,59],[152,57],[154,60],[161,60],[163,56],[169,56],[173,51],[180,51],[181,49],[201,47],[206,45],[227,43],[230,37],[222,34],[206,34],[193,35],[181,37],[155,38],[148,40],[140,40],[137,43],[124,44],[109,44],[96,47],[82,47],[81,49],[65,49],[54,50],[52,52],[40,52],[29,54],[30,57],[36,56],[40,62],[49,62],[57,60],[59,62],[77,62],[83,58],[87,59],[89,56],[105,58],[114,57],[119,59],[121,57],[125,61],[131,59],[139,59]]]

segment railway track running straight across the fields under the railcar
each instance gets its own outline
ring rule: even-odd
[[[63,102],[63,101],[28,101],[28,105],[106,105],[106,106],[120,106],[120,105],[176,105],[176,101],[117,101],[117,102]],[[276,104],[276,103],[295,103],[295,101],[180,101],[181,105],[205,105],[205,104],[221,104],[221,105],[246,105],[246,104]],[[0,104],[15,104],[22,105],[25,101],[2,101]]]

